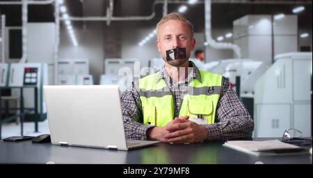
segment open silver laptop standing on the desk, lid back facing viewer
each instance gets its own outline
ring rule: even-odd
[[[44,86],[51,143],[131,150],[159,141],[126,140],[118,85]]]

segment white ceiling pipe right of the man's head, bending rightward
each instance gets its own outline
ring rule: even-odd
[[[222,49],[230,48],[236,53],[238,59],[241,58],[241,49],[236,44],[231,43],[217,43],[211,36],[211,0],[206,0],[204,3],[204,18],[205,18],[205,38],[209,46],[213,48]]]

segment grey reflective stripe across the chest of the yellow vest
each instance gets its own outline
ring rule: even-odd
[[[188,91],[184,92],[184,94],[189,94],[191,96],[199,96],[199,95],[215,95],[220,94],[220,86],[211,86],[211,87],[188,87]],[[140,89],[138,91],[139,96],[144,96],[145,98],[150,97],[163,97],[163,96],[172,96],[172,92],[168,91],[168,89],[160,89],[160,90],[145,90]]]

